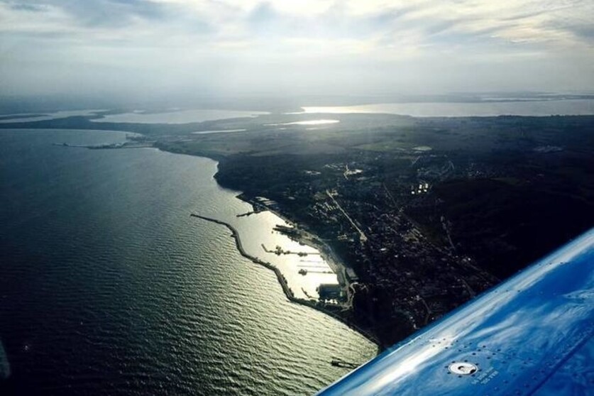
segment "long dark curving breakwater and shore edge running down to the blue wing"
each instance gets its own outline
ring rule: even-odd
[[[354,331],[357,331],[359,334],[361,334],[362,336],[364,336],[366,339],[368,339],[369,341],[375,343],[375,345],[380,345],[380,342],[378,341],[378,339],[371,334],[368,331],[365,331],[364,329],[361,329],[359,326],[357,326],[356,324],[353,323],[353,321],[350,321],[344,317],[339,316],[338,314],[336,314],[335,312],[332,312],[330,309],[326,309],[326,307],[317,304],[316,302],[312,302],[309,301],[307,299],[301,299],[301,298],[297,298],[295,297],[293,291],[291,290],[291,288],[289,287],[289,285],[287,284],[287,280],[285,278],[284,275],[282,275],[282,273],[280,272],[280,270],[273,264],[270,264],[266,261],[260,260],[257,257],[254,257],[253,255],[248,254],[245,249],[243,248],[243,245],[241,243],[241,238],[239,237],[239,233],[238,231],[235,229],[235,227],[231,226],[231,224],[226,223],[225,221],[221,221],[218,219],[212,219],[211,217],[207,217],[207,216],[202,216],[199,214],[190,214],[190,216],[192,217],[197,217],[198,219],[202,219],[205,221],[210,221],[211,223],[214,224],[219,224],[221,226],[226,226],[227,229],[229,229],[229,231],[231,231],[231,236],[233,237],[233,239],[235,239],[235,244],[236,244],[236,248],[239,251],[239,253],[241,255],[243,255],[243,257],[247,258],[248,260],[251,260],[251,262],[255,263],[255,264],[259,264],[262,265],[265,268],[268,268],[268,270],[271,270],[275,273],[278,282],[280,283],[280,287],[282,288],[282,292],[285,293],[285,296],[287,297],[287,299],[290,302],[295,302],[296,304],[302,304],[306,307],[312,308],[312,309],[316,309],[319,312],[322,312],[326,315],[329,315],[330,317],[332,317],[333,319],[336,319],[338,321],[341,321],[343,324],[346,324],[346,326],[348,326],[349,328],[353,329]]]

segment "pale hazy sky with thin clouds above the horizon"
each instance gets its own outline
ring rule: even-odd
[[[594,91],[594,0],[0,0],[1,94]]]

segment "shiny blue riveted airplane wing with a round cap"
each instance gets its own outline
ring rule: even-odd
[[[594,229],[317,395],[594,395]]]

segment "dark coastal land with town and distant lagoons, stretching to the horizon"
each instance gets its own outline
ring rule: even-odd
[[[128,131],[140,135],[92,148],[218,160],[221,186],[297,224],[286,233],[314,235],[339,256],[341,290],[324,291],[336,297],[333,312],[382,347],[594,224],[594,116],[98,117],[5,120],[0,128]]]

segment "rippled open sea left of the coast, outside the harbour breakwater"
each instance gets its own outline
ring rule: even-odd
[[[214,161],[51,145],[123,139],[0,132],[0,394],[307,395],[346,373],[332,357],[375,354],[287,302],[224,226],[189,217],[249,209],[216,185]]]

